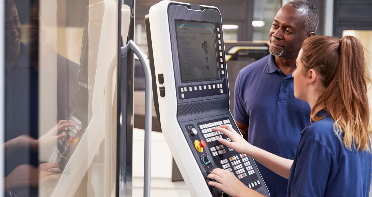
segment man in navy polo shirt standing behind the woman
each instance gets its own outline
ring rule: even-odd
[[[306,0],[283,6],[270,29],[270,54],[240,70],[234,118],[248,142],[293,160],[310,107],[294,96],[292,73],[305,39],[315,35],[318,10]],[[286,196],[288,180],[256,163],[271,196]]]

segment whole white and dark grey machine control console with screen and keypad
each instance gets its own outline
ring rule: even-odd
[[[191,195],[228,197],[219,188],[205,184],[216,181],[207,176],[213,169],[221,168],[269,197],[253,158],[221,144],[219,138],[231,141],[230,138],[212,130],[226,124],[239,132],[229,111],[224,36],[218,9],[161,1],[150,8],[145,23],[155,84],[155,111]],[[161,87],[166,87],[167,94],[159,91]]]

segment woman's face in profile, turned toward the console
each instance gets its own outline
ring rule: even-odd
[[[309,77],[307,72],[304,72],[304,65],[301,61],[302,56],[302,49],[298,53],[298,57],[296,59],[296,70],[292,73],[293,83],[294,83],[294,90],[295,90],[295,97],[300,100],[306,101],[308,86],[309,86]]]

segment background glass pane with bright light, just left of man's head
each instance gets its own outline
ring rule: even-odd
[[[282,0],[254,0],[253,40],[269,40],[269,31]]]

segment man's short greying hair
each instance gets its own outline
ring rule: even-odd
[[[289,6],[306,14],[305,30],[315,32],[319,23],[319,11],[307,0],[293,0],[288,3]]]

